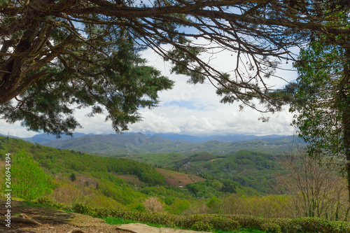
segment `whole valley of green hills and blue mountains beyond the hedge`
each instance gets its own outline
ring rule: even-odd
[[[299,197],[281,188],[280,178],[288,171],[281,165],[286,155],[279,153],[306,145],[295,140],[281,136],[195,143],[144,134],[82,135],[44,142],[57,147],[53,148],[0,136],[0,159],[6,153],[13,158],[18,153],[33,157],[49,181],[50,191],[41,203],[59,209],[86,214],[101,208],[131,211],[123,212],[123,218],[136,222],[148,217],[134,213],[147,216],[153,212],[295,218],[300,213],[290,208]],[[93,155],[92,148],[96,151],[104,146],[109,146],[109,153],[99,150]],[[216,153],[219,149],[221,153]],[[3,169],[4,162],[0,165]],[[0,180],[3,183],[3,177]],[[330,212],[323,213],[331,220],[346,216],[342,190],[337,202],[330,201]],[[259,226],[255,229],[265,229]],[[197,229],[193,227],[188,229]]]

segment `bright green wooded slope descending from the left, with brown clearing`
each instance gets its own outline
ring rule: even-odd
[[[15,156],[18,150],[26,150],[27,155],[41,164],[51,177],[53,191],[50,196],[65,204],[82,202],[94,207],[139,209],[144,200],[155,196],[165,204],[169,213],[180,214],[200,209],[202,204],[213,197],[227,196],[226,191],[221,188],[225,182],[213,178],[205,180],[192,174],[154,168],[126,158],[87,155],[0,136],[2,160],[6,153]],[[199,153],[193,157],[209,160],[213,156]],[[169,157],[168,162],[185,158],[181,154],[169,153],[158,158],[158,162],[165,157]],[[153,164],[156,164],[156,157],[153,160]],[[72,174],[76,177],[74,180],[71,179]],[[202,188],[201,193],[197,193],[196,188],[190,186],[196,183],[200,184],[198,187]],[[251,189],[244,188],[239,183],[235,192],[248,196],[259,194],[258,191],[251,192]]]

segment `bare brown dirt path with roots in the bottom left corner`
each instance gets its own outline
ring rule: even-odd
[[[6,201],[0,199],[0,232],[4,233],[193,233],[149,227],[140,223],[109,225],[99,218],[46,207],[26,206],[25,202],[11,202],[11,223],[10,227],[6,227],[6,211]]]

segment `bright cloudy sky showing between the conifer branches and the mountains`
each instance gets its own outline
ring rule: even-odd
[[[176,133],[190,135],[208,134],[255,134],[290,135],[295,131],[290,127],[292,114],[288,113],[288,107],[279,113],[265,114],[269,116],[269,122],[258,120],[261,113],[246,107],[239,111],[239,104],[221,104],[220,97],[216,96],[215,87],[209,83],[203,85],[190,85],[186,83],[185,76],[176,76],[169,72],[169,68],[162,59],[152,50],[146,50],[143,57],[148,59],[149,65],[160,69],[163,75],[176,81],[173,90],[160,93],[160,106],[153,109],[141,109],[144,120],[130,125],[129,132],[143,133]],[[220,52],[213,60],[214,65],[223,71],[230,71],[235,64],[234,57],[229,53]],[[290,64],[284,68],[290,68]],[[286,80],[296,78],[295,71],[281,71],[276,73]],[[283,86],[279,79],[269,80],[269,84],[275,87]],[[105,122],[104,115],[87,118],[86,110],[76,111],[76,118],[83,126],[76,132],[85,134],[114,134],[111,122]],[[0,134],[29,137],[38,134],[29,132],[20,126],[20,122],[8,125],[0,120]]]

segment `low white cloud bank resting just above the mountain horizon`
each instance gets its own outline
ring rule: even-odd
[[[202,103],[206,101],[202,99]],[[251,108],[239,111],[238,104],[212,105],[210,110],[189,109],[186,106],[160,106],[144,110],[144,120],[130,125],[130,132],[177,134],[293,134],[292,115],[288,111],[269,116],[268,122],[258,120],[262,115]]]

